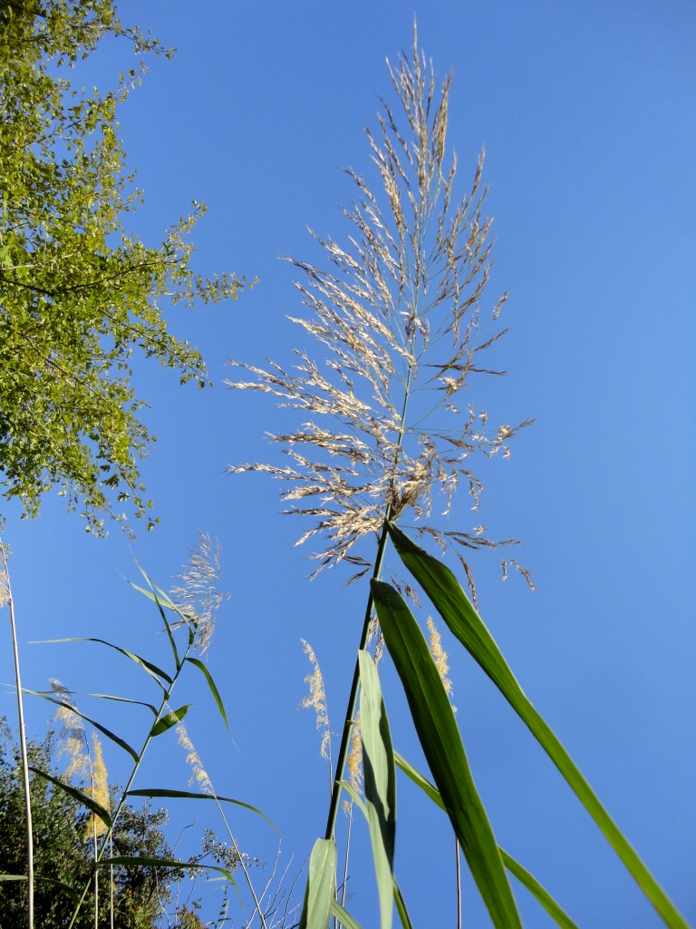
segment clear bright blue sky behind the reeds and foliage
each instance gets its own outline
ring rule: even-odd
[[[460,193],[485,146],[497,236],[490,301],[510,291],[509,334],[496,347],[496,365],[509,373],[473,385],[471,399],[492,421],[536,417],[509,460],[480,466],[480,513],[462,497],[453,522],[522,540],[536,590],[519,578],[500,582],[495,553],[478,557],[483,619],[619,826],[696,922],[693,7],[170,0],[119,9],[178,48],[173,62],[153,62],[122,109],[124,147],[146,191],[131,228],[157,242],[202,200],[209,212],[194,235],[197,267],[259,282],[235,304],[169,314],[174,332],[200,347],[213,390],[137,367],[159,439],[143,474],[160,527],[132,544],[119,530],[97,541],[57,499],[33,522],[6,510],[25,686],[53,676],[77,690],[147,693],[147,682],[97,646],[27,643],[96,635],[162,654],[156,615],[121,575],[135,578],[133,553],[167,586],[198,530],[210,532],[223,546],[231,596],[209,664],[236,747],[198,681],[188,691],[197,703],[191,737],[216,790],[277,824],[283,861],[294,856],[290,873],[323,833],[328,775],[314,719],[298,710],[310,670],[300,639],[316,650],[339,729],[367,594],[359,584],[344,589],[342,569],[304,580],[311,549],[293,548],[302,530],[279,515],[277,484],[225,474],[229,464],[277,461],[265,434],[287,425],[267,398],[226,390],[224,363],[291,363],[297,334],[287,317],[301,304],[278,256],[316,260],[307,227],[344,241],[341,208],[353,191],[341,168],[369,172],[363,128],[377,124],[390,90],[384,59],[410,45],[416,13],[438,77],[455,71],[449,140]],[[109,85],[128,54],[105,49],[85,81]],[[661,924],[493,687],[444,642],[458,722],[500,843],[579,925]],[[6,643],[3,681],[11,679],[8,634]],[[395,745],[420,764],[388,661],[382,674]],[[1,712],[13,712],[8,690]],[[41,733],[45,705],[30,704],[28,716]],[[143,786],[165,786],[166,777],[166,786],[186,789],[174,738],[157,749]],[[123,778],[120,760],[107,764]],[[396,867],[414,924],[452,923],[451,833],[401,781],[398,803]],[[174,833],[197,812],[173,810]],[[199,815],[187,836],[208,821]],[[275,832],[246,816],[235,828],[251,855],[273,860]],[[349,909],[373,925],[367,840],[355,842]],[[525,924],[552,924],[522,888],[519,899]],[[467,926],[488,924],[470,884],[464,905]]]

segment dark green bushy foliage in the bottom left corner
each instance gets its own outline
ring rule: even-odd
[[[53,769],[56,739],[49,732],[41,742],[30,745],[32,764]],[[36,889],[35,924],[42,929],[63,929],[70,919],[74,901],[54,882],[80,886],[90,880],[94,850],[85,841],[88,814],[78,799],[58,790],[48,780],[32,777],[32,817],[34,828],[34,864]],[[164,810],[152,811],[130,805],[122,808],[113,834],[114,855],[172,859],[162,827],[167,820]],[[9,729],[0,727],[0,872],[26,872],[26,833],[24,802],[21,790],[19,749]],[[114,908],[117,929],[145,929],[154,926],[162,903],[171,900],[172,883],[181,880],[182,871],[148,867],[114,868]],[[46,881],[46,879],[50,879]],[[109,924],[110,872],[99,872],[99,920]],[[9,929],[26,920],[26,883],[4,881],[0,884],[0,927]],[[103,923],[102,923],[103,921]],[[80,927],[94,925],[92,906],[84,907]]]

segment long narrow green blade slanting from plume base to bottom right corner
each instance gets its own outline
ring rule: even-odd
[[[523,692],[508,662],[505,661],[502,652],[497,647],[495,639],[488,632],[452,571],[419,545],[413,543],[392,523],[388,524],[388,530],[394,547],[406,568],[430,597],[433,606],[464,648],[469,651],[474,661],[478,662],[508,700],[512,709],[529,727],[535,739],[547,752],[548,757],[566,779],[575,796],[595,820],[599,830],[624,862],[625,867],[666,925],[670,929],[689,929],[688,923],[685,922],[662,887],[638,857],[635,849],[601,805],[598,796],[575,766],[573,759],[561,745],[561,741]]]

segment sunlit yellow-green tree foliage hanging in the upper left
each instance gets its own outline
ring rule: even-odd
[[[122,226],[141,200],[125,170],[117,105],[143,62],[115,90],[76,89],[71,71],[106,37],[164,54],[125,28],[113,0],[0,3],[0,471],[7,499],[35,516],[58,486],[92,531],[129,502],[147,517],[138,461],[153,437],[131,385],[139,348],[181,382],[208,382],[199,352],[172,335],[162,302],[236,298],[235,275],[195,276],[188,233],[194,202],[159,247]]]

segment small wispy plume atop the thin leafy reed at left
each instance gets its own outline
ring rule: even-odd
[[[199,532],[196,547],[189,553],[185,567],[176,575],[181,582],[172,588],[175,605],[196,627],[195,647],[205,652],[213,638],[215,613],[225,599],[217,589],[220,580],[221,548],[207,532]],[[174,622],[173,628],[180,626]]]

